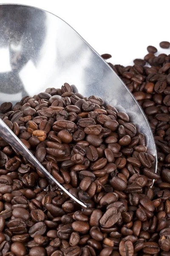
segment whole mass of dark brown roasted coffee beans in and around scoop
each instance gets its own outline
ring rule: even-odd
[[[161,42],[162,47],[167,43]],[[0,138],[0,255],[170,255],[170,115],[165,93],[170,56],[156,57],[152,46],[148,51],[149,57],[133,66],[110,65],[147,114],[159,155],[157,173],[144,134],[129,116],[104,106],[96,96],[74,93],[67,83],[26,96],[14,106],[0,106],[6,125],[88,206],[62,193]]]

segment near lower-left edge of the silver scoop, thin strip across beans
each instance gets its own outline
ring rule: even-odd
[[[87,207],[77,198],[75,198],[71,193],[69,193],[54,177],[40,164],[40,162],[31,154],[31,152],[26,148],[26,146],[20,141],[20,139],[11,131],[10,128],[0,119],[0,137],[2,137],[7,143],[12,145],[23,157],[25,157],[35,168],[40,170],[42,174],[48,177],[50,180],[54,181],[57,186],[67,193],[74,201],[81,204],[83,207]]]

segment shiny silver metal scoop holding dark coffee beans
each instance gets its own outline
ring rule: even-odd
[[[78,21],[77,21],[78,22]],[[145,135],[148,152],[156,157],[153,134],[142,108],[111,67],[65,21],[31,6],[0,5],[0,104],[15,104],[48,87],[75,84],[83,96],[96,95],[125,111]],[[0,119],[0,136],[17,148],[44,175],[52,177]]]

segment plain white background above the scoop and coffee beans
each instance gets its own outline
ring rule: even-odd
[[[2,3],[9,3],[3,0]],[[170,0],[10,0],[45,9],[69,23],[113,64],[132,64],[160,41],[170,41]]]

